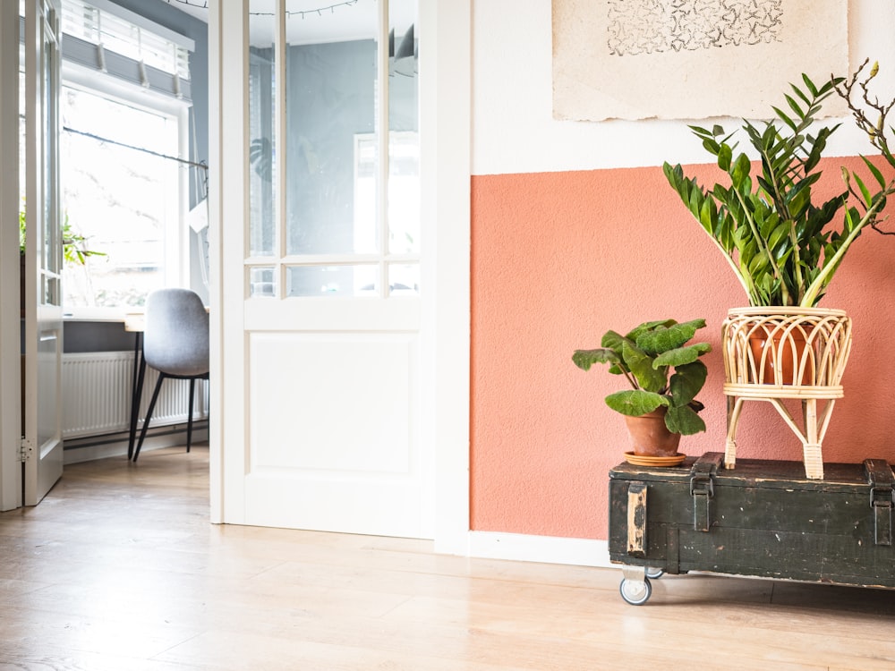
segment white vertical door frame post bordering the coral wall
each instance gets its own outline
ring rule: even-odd
[[[423,439],[435,444],[435,550],[469,554],[472,0],[420,2],[423,217],[436,222],[430,361],[435,393]],[[426,277],[423,277],[425,282]]]

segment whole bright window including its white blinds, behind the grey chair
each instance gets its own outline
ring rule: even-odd
[[[63,31],[63,306],[117,316],[189,276],[193,44],[104,0],[66,0]]]

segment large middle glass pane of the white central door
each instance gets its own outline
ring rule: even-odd
[[[354,183],[355,138],[376,130],[377,3],[307,6],[286,4],[286,254],[376,253],[376,203]]]

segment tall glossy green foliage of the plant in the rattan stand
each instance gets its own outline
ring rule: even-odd
[[[812,308],[821,300],[851,244],[885,204],[857,176],[843,170],[846,186],[829,200],[814,202],[812,188],[820,179],[823,150],[836,126],[812,131],[823,100],[841,78],[818,87],[802,75],[804,89],[791,85],[788,111],[773,107],[776,118],[763,126],[745,121],[746,133],[760,169],[745,152],[737,152],[735,133],[720,125],[712,130],[691,126],[703,147],[727,175],[711,188],[686,177],[680,165],[665,163],[664,173],[680,199],[727,259],[752,306]],[[879,171],[866,162],[882,185]],[[853,187],[857,185],[857,189]],[[849,207],[849,194],[861,196]],[[841,218],[834,230],[831,222]]]

